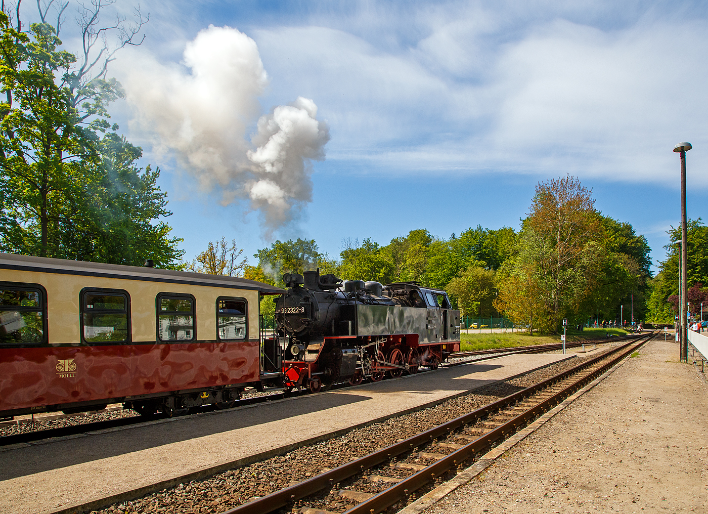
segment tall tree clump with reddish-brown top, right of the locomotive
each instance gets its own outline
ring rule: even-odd
[[[498,309],[542,332],[559,330],[563,318],[571,324],[598,312],[619,318],[619,304],[632,294],[639,313],[650,287],[649,245],[593,203],[590,190],[571,176],[539,183],[517,253],[502,265]]]

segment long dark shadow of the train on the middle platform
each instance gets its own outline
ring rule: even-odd
[[[421,401],[409,402],[410,406],[427,404],[432,401],[432,399],[426,398],[428,395],[439,399],[440,392],[450,392],[450,394],[443,396],[454,396],[498,382],[498,379],[495,378],[474,379],[472,375],[502,367],[502,365],[481,363],[446,367],[398,379],[362,384],[339,391],[297,396],[272,404],[255,404],[226,411],[161,420],[143,426],[126,427],[115,432],[86,435],[85,437],[8,450],[1,454],[0,481],[139,452],[229,430],[260,426],[340,406],[360,405],[361,407],[355,407],[355,409],[370,409],[369,402],[375,401],[377,396],[396,395],[396,393],[401,395],[420,394]],[[404,409],[406,407],[401,407],[401,410]],[[362,421],[365,419],[366,416],[362,418]]]

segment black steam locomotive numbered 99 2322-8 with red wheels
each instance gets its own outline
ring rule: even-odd
[[[459,311],[447,293],[418,282],[340,280],[319,270],[283,275],[275,308],[278,336],[264,345],[285,351],[286,389],[399,377],[438,367],[459,350]],[[266,355],[268,356],[268,355]]]

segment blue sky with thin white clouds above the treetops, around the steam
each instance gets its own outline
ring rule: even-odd
[[[111,69],[128,92],[113,118],[144,148],[144,164],[161,167],[185,258],[221,236],[254,263],[273,237],[316,239],[338,256],[347,237],[387,244],[419,227],[441,237],[477,224],[518,228],[535,184],[571,173],[593,188],[599,210],[632,223],[661,259],[665,231],[680,215],[671,150],[685,140],[694,145],[688,214],[707,217],[702,3],[149,1],[142,10],[151,15],[145,42]],[[136,74],[170,72],[173,82],[197,74],[183,52],[210,25],[251,38],[268,75],[237,116],[241,153],[260,115],[299,96],[329,125],[326,159],[306,159],[311,201],[302,193],[277,226],[266,227],[243,195],[224,205],[240,175],[205,181],[139,102]],[[205,61],[233,54],[200,49]]]

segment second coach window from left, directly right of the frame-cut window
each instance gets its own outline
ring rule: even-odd
[[[130,295],[124,290],[81,290],[81,335],[86,343],[130,339]]]

